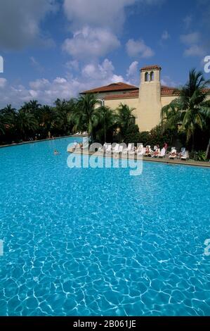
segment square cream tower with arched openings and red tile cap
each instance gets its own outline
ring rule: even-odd
[[[140,131],[150,131],[159,124],[161,118],[161,84],[159,65],[140,69],[140,89],[138,96],[138,127]]]

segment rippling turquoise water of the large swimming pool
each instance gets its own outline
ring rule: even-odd
[[[71,141],[0,149],[0,315],[209,316],[210,169],[70,169]]]

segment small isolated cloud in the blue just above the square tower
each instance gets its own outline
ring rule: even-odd
[[[126,51],[131,57],[150,58],[155,54],[150,46],[145,44],[143,39],[136,41],[134,39],[129,39],[126,43]]]

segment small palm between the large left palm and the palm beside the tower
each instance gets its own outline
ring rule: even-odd
[[[101,106],[98,111],[100,112],[100,125],[103,127],[104,142],[106,142],[107,132],[113,131],[117,123],[117,115],[107,106]]]

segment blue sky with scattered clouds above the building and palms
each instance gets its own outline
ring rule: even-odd
[[[138,86],[150,64],[162,66],[163,85],[182,85],[210,55],[210,0],[1,0],[0,9],[0,107]]]

